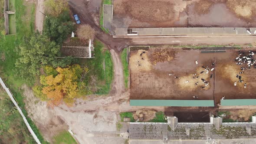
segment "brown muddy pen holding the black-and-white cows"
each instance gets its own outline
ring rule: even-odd
[[[234,61],[239,50],[201,51],[187,48],[131,50],[130,99],[215,100],[217,105],[224,96],[225,99],[256,98],[253,90],[256,65],[242,71],[241,66],[246,67],[247,62],[237,65],[240,58]],[[241,50],[241,53],[242,57],[249,55],[248,50]],[[236,78],[237,74],[241,78]]]

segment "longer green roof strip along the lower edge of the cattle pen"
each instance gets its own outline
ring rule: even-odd
[[[131,106],[214,107],[213,100],[130,100]]]

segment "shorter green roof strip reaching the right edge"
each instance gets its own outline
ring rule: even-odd
[[[220,100],[221,106],[240,106],[240,105],[256,105],[256,99],[223,99]]]

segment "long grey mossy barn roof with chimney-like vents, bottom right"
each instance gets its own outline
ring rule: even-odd
[[[200,144],[213,144],[217,139],[256,138],[256,116],[252,116],[251,122],[222,122],[222,118],[214,115],[210,116],[210,122],[178,122],[175,116],[167,117],[166,123],[130,122],[129,138],[136,144],[147,140],[158,141],[157,144],[204,140]]]

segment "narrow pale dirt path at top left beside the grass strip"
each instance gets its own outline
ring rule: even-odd
[[[36,21],[35,21],[35,24],[36,24],[36,30],[38,30],[39,32],[43,31],[43,19],[44,19],[43,13],[45,11],[43,1],[44,0],[37,0],[37,5],[36,5]]]

